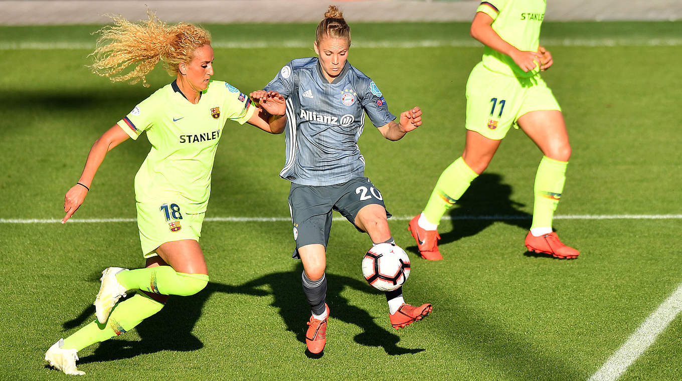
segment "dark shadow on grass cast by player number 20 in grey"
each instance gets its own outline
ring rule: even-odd
[[[271,305],[280,310],[280,316],[284,319],[286,330],[294,333],[296,339],[303,343],[301,350],[305,348],[306,329],[308,329],[306,322],[310,319],[310,308],[308,307],[305,296],[303,296],[303,290],[301,290],[302,271],[303,265],[301,262],[298,262],[294,271],[271,273],[240,286],[246,289],[256,290],[263,286],[270,286],[274,296]],[[376,297],[381,299],[383,304],[385,301],[383,292],[376,291],[365,282],[351,277],[331,273],[327,273],[326,277],[329,316],[335,320],[355,324],[362,329],[362,332],[354,337],[357,344],[381,347],[386,351],[386,354],[391,356],[415,354],[424,351],[424,349],[409,349],[398,346],[400,337],[395,333],[387,331],[393,329],[389,322],[387,308],[381,311],[382,314],[379,318],[379,321],[381,322],[380,326],[374,322],[375,318],[370,315],[368,311],[349,303],[349,300],[342,296],[342,292],[345,288],[351,288],[361,292],[376,294]],[[332,320],[327,327],[327,344],[331,345],[335,345],[339,340],[339,336],[335,335],[334,331],[340,331],[340,329],[334,327],[334,324],[335,322]],[[293,348],[293,350],[295,349],[296,348]],[[321,354],[310,354],[308,351],[306,351],[306,355],[313,358],[321,356]]]

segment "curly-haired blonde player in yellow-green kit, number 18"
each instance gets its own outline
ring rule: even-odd
[[[64,199],[65,223],[83,204],[108,151],[143,131],[151,143],[135,177],[138,229],[145,269],[109,267],[95,299],[97,320],[45,354],[45,361],[65,374],[76,369],[78,350],[130,331],[160,311],[168,295],[188,296],[209,280],[198,244],[211,189],[211,169],[226,121],[250,123],[266,132],[284,130],[284,99],[276,93],[258,93],[259,103],[226,82],[211,80],[213,48],[204,29],[180,23],[168,26],[149,14],[133,24],[113,18],[115,25],[100,31],[93,72],[111,80],[143,81],[158,61],[164,61],[175,80],[140,102],[108,129],[90,150],[78,183]],[[134,65],[129,74],[121,70]],[[121,296],[136,294],[121,303]]]

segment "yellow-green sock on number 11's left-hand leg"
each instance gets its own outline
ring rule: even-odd
[[[426,220],[438,225],[441,217],[462,197],[476,177],[478,174],[464,163],[462,157],[445,168],[424,208]]]

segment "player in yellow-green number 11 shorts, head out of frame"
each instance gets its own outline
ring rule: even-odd
[[[441,217],[488,167],[511,125],[520,127],[544,155],[535,175],[527,249],[555,258],[579,254],[552,231],[571,146],[561,108],[539,74],[553,63],[539,45],[545,8],[546,0],[490,0],[477,9],[471,35],[486,47],[466,83],[464,153],[443,171],[424,211],[409,223],[419,253],[428,260],[443,259],[436,230]]]

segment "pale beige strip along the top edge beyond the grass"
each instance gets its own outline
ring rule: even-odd
[[[479,0],[0,0],[0,25],[99,24],[104,14],[169,22],[318,22],[336,4],[351,22],[470,21]],[[254,12],[258,10],[258,12]],[[549,0],[546,20],[682,19],[681,0]]]

